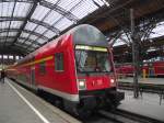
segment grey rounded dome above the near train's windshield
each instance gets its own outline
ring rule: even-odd
[[[70,30],[68,33],[72,34],[74,44],[103,47],[108,46],[105,35],[98,29],[90,24],[79,25]]]

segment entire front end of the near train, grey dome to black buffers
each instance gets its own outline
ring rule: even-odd
[[[125,93],[116,90],[114,63],[104,34],[84,24],[72,33],[79,108],[117,107]]]

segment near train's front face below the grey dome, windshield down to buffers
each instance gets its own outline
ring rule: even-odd
[[[124,93],[116,91],[114,66],[109,57],[107,47],[75,46],[81,108],[114,108],[124,99]]]

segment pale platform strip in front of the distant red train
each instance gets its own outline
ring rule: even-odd
[[[133,82],[132,77],[126,77],[118,79],[118,82]],[[141,83],[153,83],[153,85],[164,85],[164,78],[139,78]]]

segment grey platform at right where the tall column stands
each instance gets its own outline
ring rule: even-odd
[[[143,93],[139,99],[133,98],[132,91],[126,90],[125,93],[126,98],[118,109],[164,121],[164,99],[160,105],[160,98],[155,93]]]

